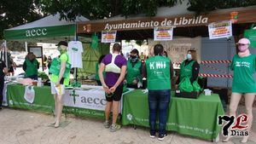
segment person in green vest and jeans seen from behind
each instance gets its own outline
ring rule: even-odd
[[[159,140],[166,137],[166,120],[171,100],[172,62],[163,56],[164,47],[154,45],[154,56],[146,60],[146,71],[143,74],[148,80],[148,107],[150,137],[155,137],[155,124],[159,112]]]

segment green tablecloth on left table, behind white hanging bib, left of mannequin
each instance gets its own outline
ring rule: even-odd
[[[9,107],[35,110],[41,112],[53,112],[54,97],[50,94],[50,87],[33,87],[35,90],[35,98],[33,103],[29,103],[24,99],[25,86],[8,84],[7,99]]]

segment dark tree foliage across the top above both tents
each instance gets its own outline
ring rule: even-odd
[[[172,7],[183,0],[1,0],[0,39],[3,30],[38,20],[44,14],[61,14],[61,19],[74,20],[84,15],[90,20],[115,15],[145,14],[154,16],[161,6]],[[189,10],[197,14],[215,9],[229,9],[256,5],[256,0],[189,0]]]

